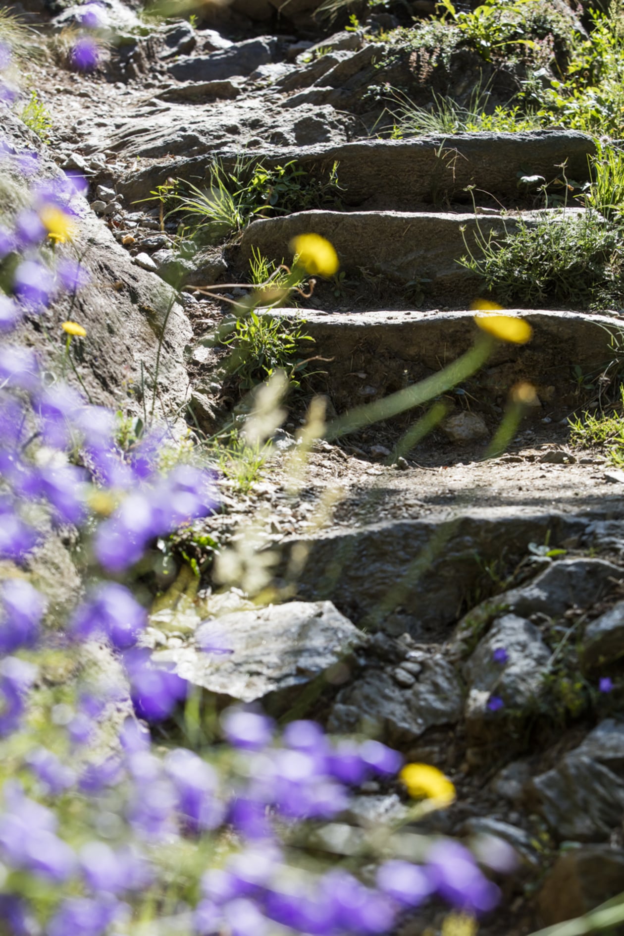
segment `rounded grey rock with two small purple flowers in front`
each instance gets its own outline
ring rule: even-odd
[[[492,659],[499,648],[507,651],[505,665]],[[551,651],[530,621],[505,614],[494,622],[462,669],[469,685],[465,716],[470,739],[495,738],[501,733],[501,722],[510,717],[520,722],[530,715],[530,708],[541,695],[550,656]],[[502,709],[487,708],[490,695],[502,699]]]

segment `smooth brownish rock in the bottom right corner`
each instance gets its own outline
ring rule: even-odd
[[[624,855],[606,845],[575,848],[559,856],[538,895],[545,926],[588,914],[618,894],[624,884]]]

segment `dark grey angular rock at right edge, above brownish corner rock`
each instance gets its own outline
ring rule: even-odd
[[[605,841],[624,815],[622,764],[624,724],[608,719],[527,784],[528,800],[559,840]]]

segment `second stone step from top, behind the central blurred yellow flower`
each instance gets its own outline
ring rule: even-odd
[[[583,209],[524,212],[523,223],[538,224],[544,216],[565,222]],[[341,271],[361,280],[381,274],[387,288],[404,291],[406,285],[422,290],[430,305],[440,302],[465,307],[478,294],[481,278],[457,261],[468,254],[481,256],[480,241],[517,229],[514,216],[499,212],[297,212],[285,217],[254,221],[246,227],[230,259],[240,275],[248,275],[254,251],[269,260],[289,263],[289,244],[298,234],[320,234],[336,248]]]

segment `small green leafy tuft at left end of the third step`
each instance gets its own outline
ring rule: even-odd
[[[305,333],[304,325],[304,320],[255,312],[239,318],[234,334],[224,339],[224,344],[232,348],[228,370],[238,377],[240,388],[251,389],[277,371],[283,371],[291,387],[297,388],[297,374],[307,365],[307,359],[300,357],[299,343],[314,340]]]

